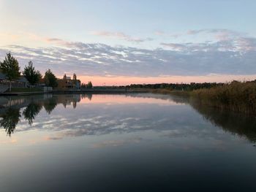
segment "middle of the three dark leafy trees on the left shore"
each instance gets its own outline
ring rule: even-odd
[[[42,74],[34,69],[32,61],[29,61],[28,66],[25,66],[23,75],[31,85],[36,84],[42,78]]]

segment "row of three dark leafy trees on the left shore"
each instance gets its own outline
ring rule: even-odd
[[[18,60],[13,57],[11,53],[7,53],[4,61],[0,61],[0,70],[5,75],[6,79],[10,82],[10,90],[12,81],[18,80],[23,74],[30,85],[36,85],[39,82],[44,82],[45,85],[50,87],[57,87],[57,77],[50,69],[45,72],[45,76],[36,70],[33,66],[33,62],[29,61],[29,64],[25,66],[23,72],[20,72],[20,66]]]

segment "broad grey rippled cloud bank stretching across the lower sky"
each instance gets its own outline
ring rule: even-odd
[[[228,34],[228,38],[206,42],[160,42],[161,47],[148,50],[138,47],[110,46],[99,43],[69,42],[45,38],[51,47],[0,47],[0,59],[11,51],[21,69],[29,60],[41,72],[52,69],[57,75],[75,72],[83,76],[203,76],[208,74],[256,74],[256,38],[234,31],[208,29],[197,33]],[[102,32],[104,36],[113,33]],[[115,34],[127,38],[125,34]]]

